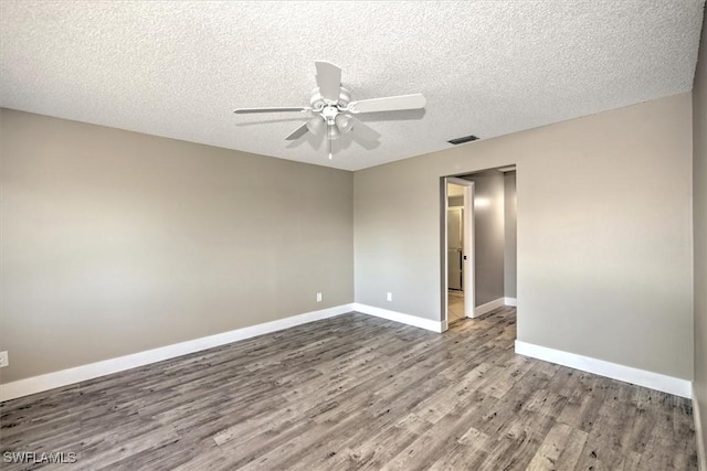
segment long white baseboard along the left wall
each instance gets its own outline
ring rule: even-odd
[[[250,339],[265,333],[276,332],[295,325],[321,319],[333,318],[354,311],[354,304],[342,304],[334,308],[321,309],[319,311],[306,312],[272,322],[251,325],[215,335],[203,336],[201,339],[189,340],[187,342],[175,343],[159,349],[119,356],[117,358],[105,360],[103,362],[91,363],[40,376],[19,379],[12,383],[0,385],[0,402],[14,399],[56,387],[67,386],[82,381],[93,379],[112,373],[175,358],[189,353],[200,352],[214,346],[225,345],[239,340]]]

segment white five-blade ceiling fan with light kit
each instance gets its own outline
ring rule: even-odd
[[[421,94],[389,96],[384,98],[361,99],[351,101],[348,89],[341,86],[341,69],[326,61],[315,62],[317,67],[317,88],[312,93],[309,106],[276,107],[276,108],[238,108],[239,115],[251,113],[286,113],[299,111],[305,114],[307,121],[295,129],[286,140],[296,140],[307,133],[320,135],[326,131],[326,138],[331,159],[331,141],[341,133],[354,132],[367,141],[374,141],[380,135],[357,119],[354,115],[361,113],[399,111],[403,109],[424,108],[428,100]]]

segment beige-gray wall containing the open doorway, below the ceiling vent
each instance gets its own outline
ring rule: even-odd
[[[358,171],[356,300],[441,320],[440,178],[517,163],[518,339],[689,379],[692,146],[688,93]]]

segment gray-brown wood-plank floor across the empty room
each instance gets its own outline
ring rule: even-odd
[[[515,331],[514,308],[445,334],[351,313],[7,402],[3,453],[77,462],[0,468],[697,469],[689,400],[516,355]]]

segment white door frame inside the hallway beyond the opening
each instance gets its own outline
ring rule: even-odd
[[[447,184],[454,183],[455,185],[464,186],[464,250],[462,253],[462,287],[464,289],[464,315],[472,318],[474,315],[474,308],[476,306],[476,292],[475,292],[475,263],[474,263],[474,182],[457,179],[455,176],[444,178],[444,217],[443,217],[443,240],[444,249],[442,250],[444,257],[444,282],[442,290],[442,306],[443,306],[443,320],[444,324],[449,327],[447,313],[449,313],[449,253],[447,253],[447,214],[450,208],[450,197],[447,194]]]

